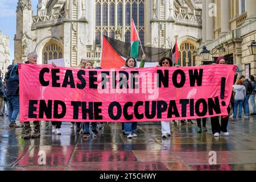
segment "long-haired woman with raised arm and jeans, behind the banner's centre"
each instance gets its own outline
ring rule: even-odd
[[[143,68],[146,60],[146,55],[142,56],[141,64],[139,68]],[[129,69],[129,68],[138,68],[137,61],[133,57],[128,57],[125,61],[125,66],[121,67],[122,69]],[[137,130],[137,122],[126,122],[122,123],[122,130],[123,134],[127,135],[127,138],[131,139],[133,137],[137,137],[136,130]]]

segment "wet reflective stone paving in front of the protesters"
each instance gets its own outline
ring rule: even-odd
[[[197,134],[196,122],[171,123],[161,138],[159,122],[141,123],[138,138],[127,139],[119,123],[106,123],[100,138],[82,139],[64,123],[61,136],[42,122],[41,138],[23,140],[24,129],[9,129],[0,118],[0,170],[256,170],[256,117],[229,122],[229,137]],[[32,123],[31,123],[32,126]],[[209,164],[216,151],[217,165]],[[45,153],[44,153],[45,152]],[[46,164],[40,156],[46,154]]]

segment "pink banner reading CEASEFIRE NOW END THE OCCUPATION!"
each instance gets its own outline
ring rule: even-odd
[[[145,122],[228,115],[235,65],[78,69],[19,65],[20,121]]]

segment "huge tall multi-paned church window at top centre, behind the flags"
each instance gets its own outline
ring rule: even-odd
[[[145,0],[96,0],[96,45],[101,44],[104,30],[107,30],[106,35],[114,38],[118,26],[122,30],[122,41],[130,42],[131,18],[144,44],[144,3]]]

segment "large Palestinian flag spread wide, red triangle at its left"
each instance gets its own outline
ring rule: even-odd
[[[125,65],[126,57],[130,56],[131,44],[122,42],[108,36],[102,37],[101,44],[101,68],[121,68]],[[144,52],[147,56],[144,67],[155,67],[162,57],[170,57],[171,49],[144,47]],[[142,49],[138,49],[137,65],[142,59]]]

